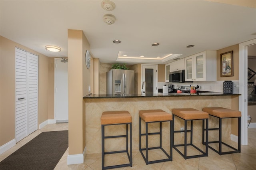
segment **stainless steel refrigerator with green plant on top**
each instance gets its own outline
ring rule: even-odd
[[[112,69],[106,73],[106,93],[134,94],[134,70]]]

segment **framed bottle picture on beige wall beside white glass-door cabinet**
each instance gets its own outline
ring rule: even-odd
[[[231,77],[233,73],[233,51],[220,54],[220,77]]]

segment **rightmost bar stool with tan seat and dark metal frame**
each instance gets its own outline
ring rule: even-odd
[[[208,130],[219,130],[219,140],[208,142],[208,143],[218,143],[219,150],[212,148],[210,145],[209,145],[209,148],[217,152],[219,155],[240,153],[241,152],[241,112],[231,110],[231,109],[226,109],[223,107],[205,107],[202,109],[202,111],[209,113],[209,115],[212,117],[218,118],[218,121],[219,121],[218,128],[208,129]],[[227,118],[238,118],[238,148],[234,148],[222,141],[222,119],[227,119]],[[222,144],[228,146],[228,148],[232,148],[233,151],[222,152]]]

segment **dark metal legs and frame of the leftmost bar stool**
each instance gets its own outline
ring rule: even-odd
[[[102,170],[106,169],[112,169],[112,168],[121,168],[126,166],[132,166],[132,123],[120,123],[120,124],[110,124],[110,125],[126,125],[126,135],[117,135],[117,136],[105,136],[105,126],[109,125],[101,125],[101,142],[102,142]],[[130,154],[128,152],[128,125],[130,126]],[[104,140],[106,138],[126,138],[126,150],[118,150],[118,151],[111,151],[111,152],[105,152],[104,151]],[[113,166],[104,166],[104,156],[105,154],[116,154],[116,153],[123,153],[126,152],[129,163],[128,164],[119,164],[119,165],[113,165]]]

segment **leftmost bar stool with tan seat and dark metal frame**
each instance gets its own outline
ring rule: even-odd
[[[107,111],[103,112],[101,116],[101,142],[102,142],[102,170],[120,168],[125,166],[132,166],[132,116],[128,111]],[[126,135],[117,136],[105,136],[105,126],[110,125],[126,125]],[[128,125],[130,126],[130,155],[128,152]],[[118,150],[105,152],[104,151],[104,141],[106,138],[126,138],[126,150]],[[104,166],[104,156],[105,154],[116,154],[126,152],[129,162],[128,164],[119,164],[113,166]]]

